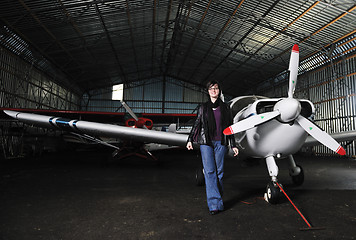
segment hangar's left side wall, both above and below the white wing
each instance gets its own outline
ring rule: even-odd
[[[54,77],[23,60],[22,55],[0,47],[0,108],[79,109],[78,94],[60,86]],[[0,158],[35,156],[55,149],[61,144],[53,139],[57,139],[53,131],[29,127],[13,119],[0,119]]]

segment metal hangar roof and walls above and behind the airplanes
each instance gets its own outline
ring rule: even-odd
[[[136,113],[191,114],[212,79],[226,100],[283,97],[297,43],[296,98],[315,104],[327,132],[355,130],[354,10],[350,0],[6,0],[0,107],[125,112],[112,100],[123,84]]]

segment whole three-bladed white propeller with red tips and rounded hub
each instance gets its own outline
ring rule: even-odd
[[[330,148],[340,155],[345,155],[346,151],[341,145],[335,141],[329,134],[321,130],[314,123],[300,115],[301,105],[297,99],[293,98],[295,86],[297,83],[299,65],[299,47],[297,44],[293,46],[290,62],[289,62],[289,89],[288,98],[283,98],[278,101],[272,112],[253,115],[244,120],[238,121],[224,130],[225,135],[232,135],[246,131],[260,124],[268,122],[274,118],[284,123],[296,121],[308,134],[319,141],[324,146]]]

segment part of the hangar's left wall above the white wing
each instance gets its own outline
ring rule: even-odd
[[[80,96],[0,47],[0,107],[78,110]]]

